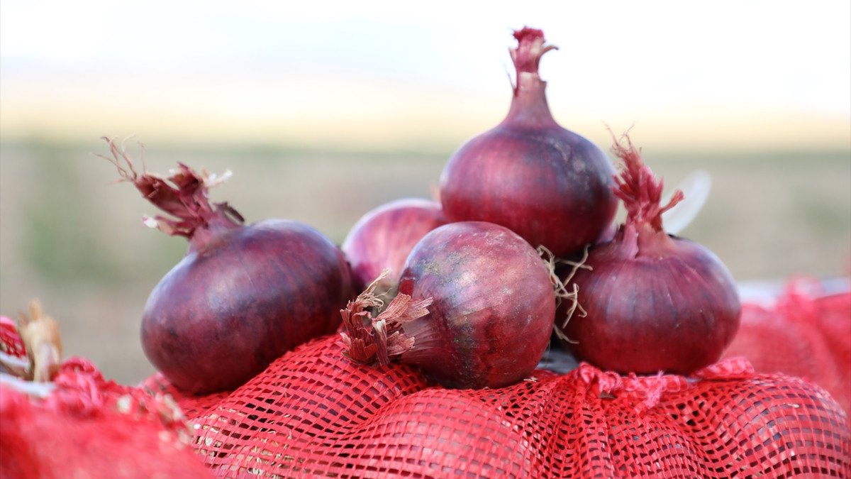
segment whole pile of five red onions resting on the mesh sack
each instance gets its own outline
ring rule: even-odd
[[[557,124],[538,73],[555,47],[532,28],[514,38],[509,112],[448,159],[440,201],[368,211],[339,248],[300,222],[244,225],[230,205],[210,204],[213,177],[184,164],[167,179],[140,175],[107,140],[123,179],[174,216],[149,226],[189,240],[146,304],[153,365],[183,390],[229,390],[340,321],[351,361],[404,362],[451,388],[527,378],[554,330],[578,359],[617,372],[717,361],[739,297],[711,251],[662,228],[683,194],[661,205],[662,182],[628,137],[614,145],[619,177],[600,148]],[[619,198],[627,216],[615,229]],[[554,264],[581,251],[559,280]],[[354,300],[352,284],[363,290]]]

